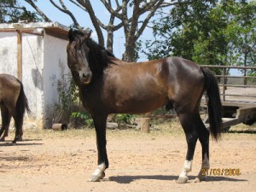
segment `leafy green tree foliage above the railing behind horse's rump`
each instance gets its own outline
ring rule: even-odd
[[[178,1],[153,24],[155,39],[143,50],[149,60],[176,55],[203,65],[255,66],[255,2]]]

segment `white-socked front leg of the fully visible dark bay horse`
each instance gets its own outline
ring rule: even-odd
[[[98,166],[90,177],[91,182],[100,181],[105,177],[105,169],[108,168],[106,122],[108,115],[97,116],[93,118],[96,129],[96,143],[98,150]]]

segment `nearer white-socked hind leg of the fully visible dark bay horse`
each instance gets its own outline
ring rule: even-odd
[[[188,150],[187,150],[187,155],[186,155],[186,160],[184,162],[183,170],[177,179],[177,183],[186,183],[189,179],[187,175],[189,172],[191,172],[191,169],[192,169],[192,160],[195,152],[195,144],[199,137],[197,127],[196,127],[197,119],[195,118],[196,115],[193,115],[190,113],[183,113],[183,114],[178,113],[178,117],[186,135]]]

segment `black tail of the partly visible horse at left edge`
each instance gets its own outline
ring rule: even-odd
[[[24,117],[25,110],[27,113],[31,113],[31,110],[27,103],[26,95],[23,89],[23,84],[20,81],[19,83],[20,83],[20,95],[16,102],[16,114],[17,114],[17,121],[21,122]]]

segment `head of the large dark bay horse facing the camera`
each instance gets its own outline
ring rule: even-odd
[[[67,65],[79,74],[82,84],[90,84],[92,72],[90,70],[88,55],[90,49],[85,44],[90,33],[83,33],[71,29],[68,32],[69,43],[67,44]]]

